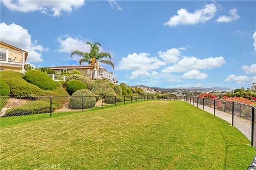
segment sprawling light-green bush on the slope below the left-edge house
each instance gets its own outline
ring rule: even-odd
[[[1,71],[0,79],[10,87],[10,96],[45,96],[45,90],[28,83],[23,79],[24,74],[14,71]]]

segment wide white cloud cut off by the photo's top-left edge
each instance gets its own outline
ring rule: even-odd
[[[2,1],[3,5],[12,11],[35,12],[39,11],[47,15],[60,16],[62,11],[71,12],[73,8],[79,8],[84,5],[84,0],[65,0],[65,1]]]

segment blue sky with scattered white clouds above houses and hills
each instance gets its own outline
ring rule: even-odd
[[[1,1],[1,40],[38,67],[77,65],[101,43],[119,82],[151,87],[250,87],[255,1]]]

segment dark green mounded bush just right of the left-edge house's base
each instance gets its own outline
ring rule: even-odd
[[[34,84],[35,86],[44,90],[53,90],[57,88],[57,85],[52,80],[52,78],[41,71],[28,70],[25,74],[24,79],[27,82]]]

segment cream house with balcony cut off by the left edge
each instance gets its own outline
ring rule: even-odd
[[[0,41],[0,70],[24,72],[28,52]]]

